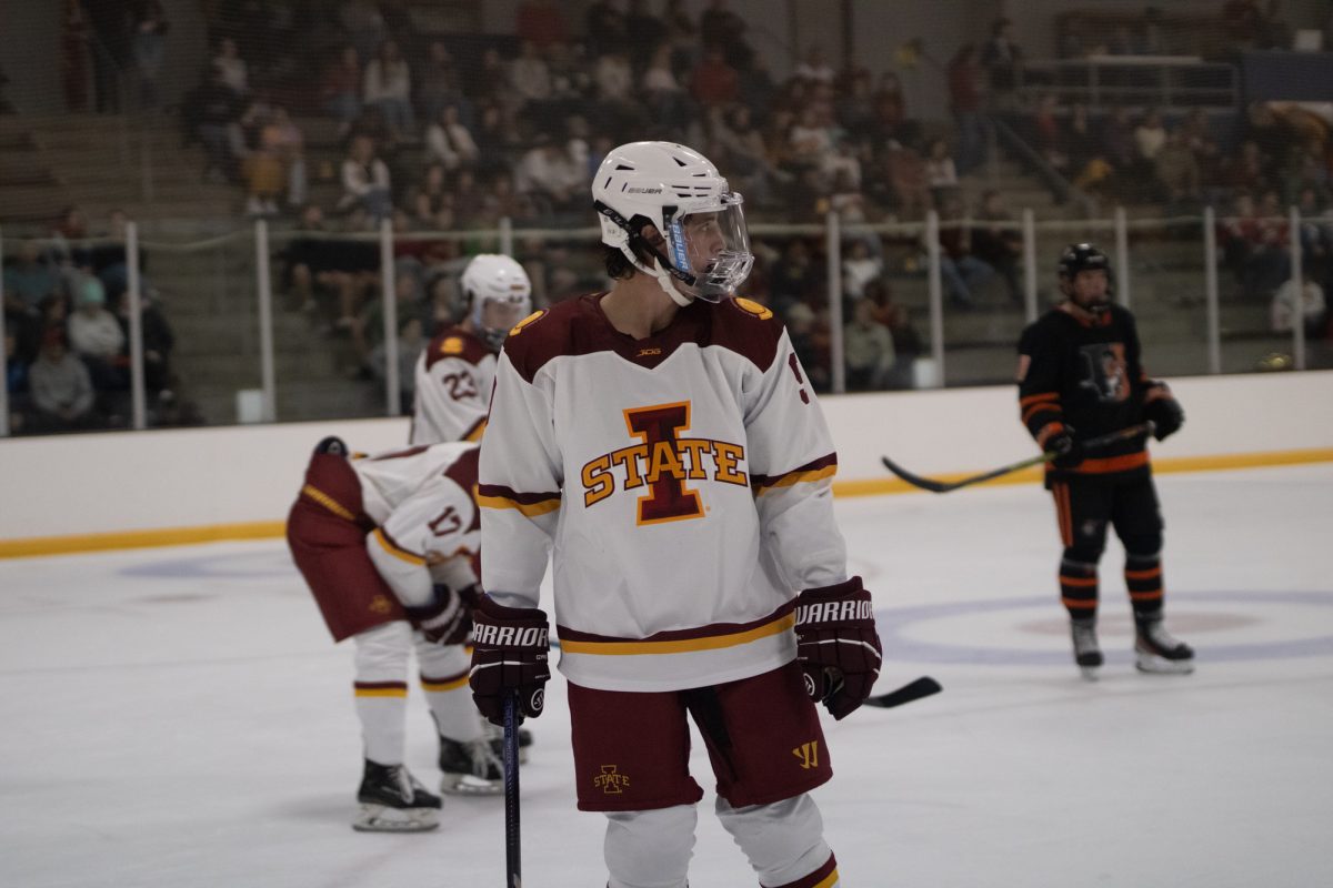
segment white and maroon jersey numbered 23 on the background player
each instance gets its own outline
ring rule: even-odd
[[[496,355],[460,326],[431,339],[416,362],[413,445],[480,441],[487,425]]]

